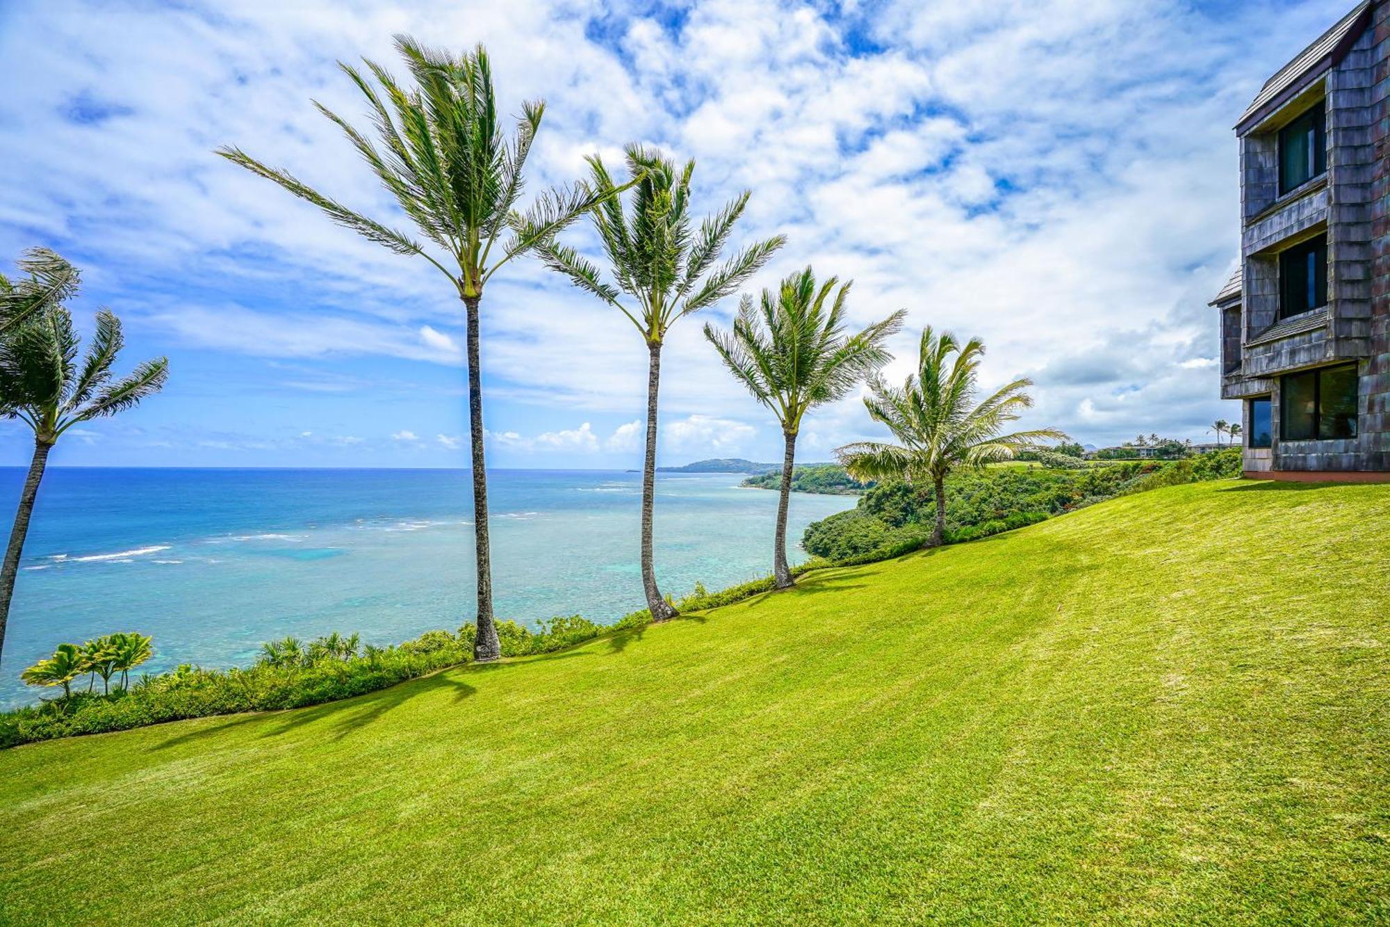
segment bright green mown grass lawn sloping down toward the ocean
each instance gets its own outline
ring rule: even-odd
[[[8,919],[1390,917],[1390,487],[1198,484],[0,754]]]

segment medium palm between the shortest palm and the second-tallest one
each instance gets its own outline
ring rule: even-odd
[[[755,399],[777,415],[783,426],[785,451],[773,539],[777,589],[792,585],[787,568],[787,507],[802,416],[808,409],[844,398],[856,383],[887,363],[891,355],[883,342],[902,327],[906,315],[895,312],[847,337],[844,317],[849,283],[834,292],[838,283],[831,277],[817,288],[815,274],[806,267],[783,280],[776,294],[763,290],[756,310],[752,296],[744,296],[733,331],[705,324],[705,337],[719,351],[724,366]]]

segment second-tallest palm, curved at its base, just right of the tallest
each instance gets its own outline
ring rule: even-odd
[[[749,192],[744,191],[719,213],[692,228],[689,213],[691,174],[695,161],[677,173],[676,163],[639,145],[626,149],[631,180],[619,188],[603,161],[589,161],[591,196],[602,199],[591,213],[613,274],[605,283],[599,269],[573,248],[548,239],[538,253],[556,270],[637,326],[646,342],[646,457],[642,464],[642,587],[653,621],[676,617],[656,586],[652,566],[652,515],[656,497],[656,406],[662,376],[662,344],[680,319],[719,302],[762,267],[785,238],[759,241],[714,267],[734,223],[744,214]],[[632,187],[631,216],[623,206],[621,189]],[[627,299],[624,299],[627,296]]]

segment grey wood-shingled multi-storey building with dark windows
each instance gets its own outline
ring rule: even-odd
[[[1212,305],[1248,475],[1390,480],[1387,97],[1390,0],[1366,0],[1236,124],[1240,264]]]

